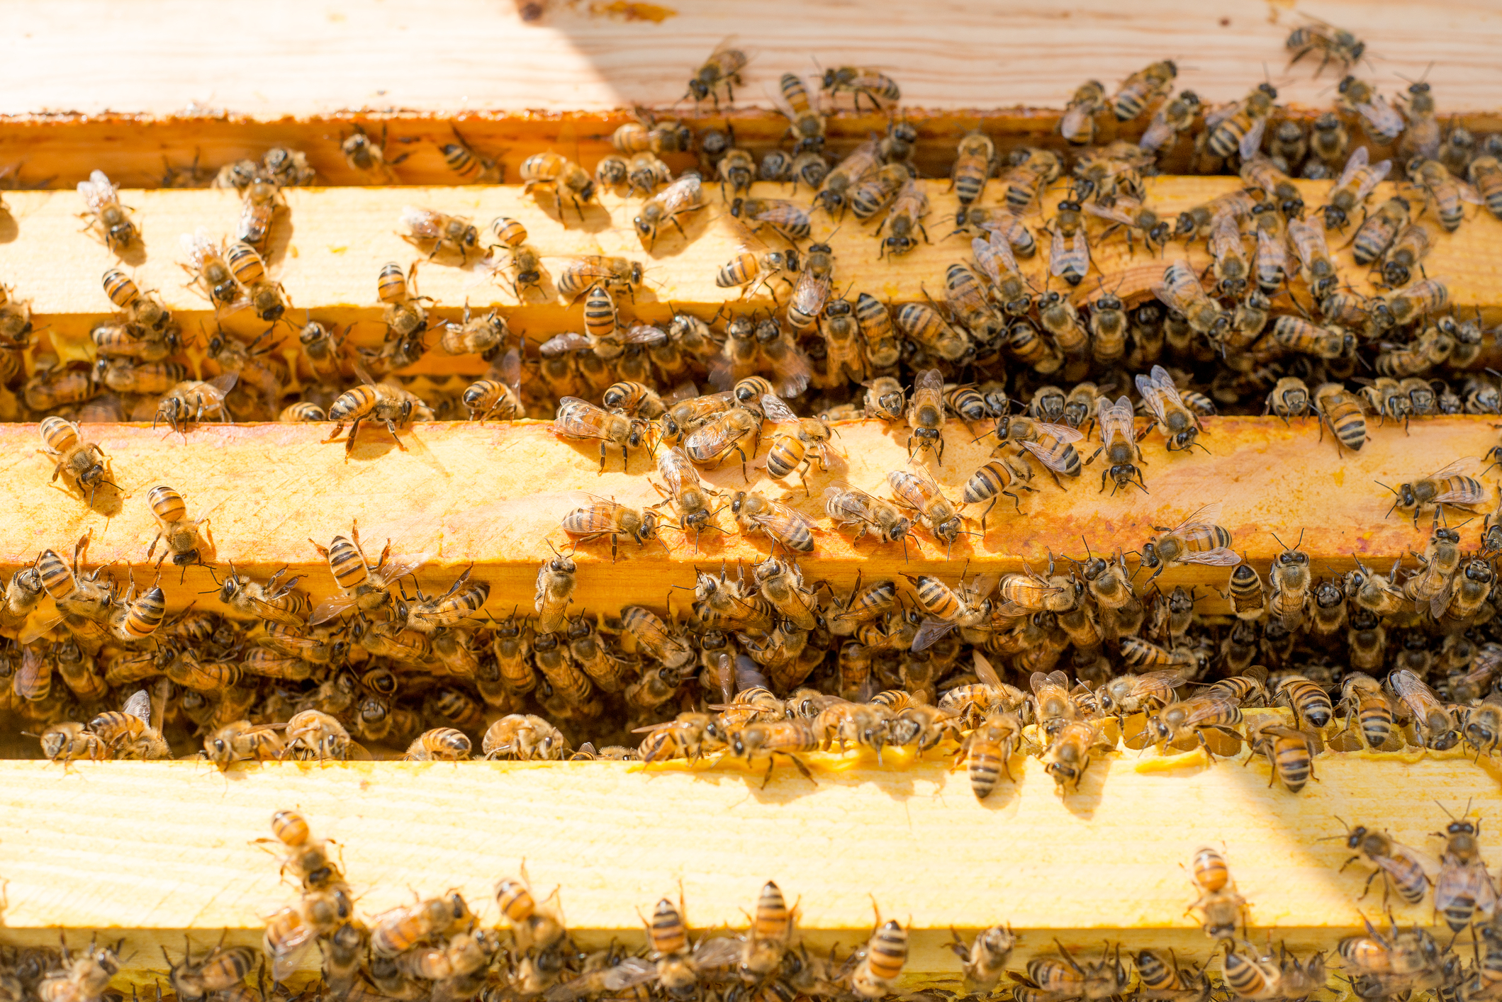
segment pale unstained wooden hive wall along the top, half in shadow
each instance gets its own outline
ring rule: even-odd
[[[784,72],[813,72],[814,59],[822,66],[879,66],[903,84],[906,104],[934,110],[1057,108],[1087,77],[1111,86],[1163,57],[1179,60],[1182,86],[1217,102],[1242,98],[1271,72],[1286,101],[1329,104],[1329,84],[1338,80],[1329,69],[1314,78],[1317,63],[1308,59],[1283,71],[1283,42],[1305,11],[1235,0],[1154,0],[1130,11],[1086,0],[966,9],[942,18],[891,0],[864,8],[867,17],[775,0],[759,8],[756,21],[704,0],[620,6],[544,0],[542,18],[530,24],[520,21],[518,6],[443,0],[416,17],[369,0],[336,8],[270,0],[210,17],[176,0],[146,24],[105,0],[23,5],[11,20],[15,86],[0,113],[164,116],[189,102],[269,119],[341,108],[667,107],[683,98],[692,69],[730,35],[756,53],[737,101],[763,107],[763,86],[775,87]],[[1397,74],[1418,80],[1427,71],[1443,114],[1496,108],[1490,77],[1502,39],[1496,11],[1373,9],[1358,0],[1325,0],[1307,14],[1365,39],[1373,65],[1356,72],[1383,92],[1406,86]],[[204,45],[209,38],[239,45]],[[443,53],[443,59],[413,59],[413,53]],[[65,60],[72,72],[56,80],[53,71]]]

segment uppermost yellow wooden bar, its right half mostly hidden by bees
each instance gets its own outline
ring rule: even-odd
[[[883,258],[874,225],[861,225],[853,218],[829,219],[823,212],[813,216],[813,239],[828,239],[835,254],[835,282],[840,291],[850,288],[853,297],[868,291],[886,302],[922,300],[925,291],[940,297],[943,275],[954,261],[967,261],[967,236],[951,236],[955,200],[945,189],[948,182],[922,182],[933,212],[927,227],[930,243],[898,258]],[[1311,207],[1325,201],[1332,182],[1299,182]],[[1215,195],[1233,191],[1235,177],[1164,177],[1149,180],[1149,204],[1161,215],[1175,218],[1181,210]],[[1391,185],[1379,186],[1373,200],[1386,198]],[[1000,195],[993,182],[991,198]],[[1068,290],[1059,279],[1048,281],[1048,234],[1041,224],[1054,213],[1053,204],[1063,197],[1060,183],[1045,192],[1044,218],[1033,215],[1029,227],[1035,231],[1039,252],[1023,261],[1023,270],[1038,288],[1054,285]],[[759,197],[789,197],[790,186],[759,183]],[[647,248],[635,234],[631,219],[638,213],[640,198],[604,195],[598,204],[586,207],[583,219],[565,204],[560,221],[550,194],[523,195],[520,186],[470,188],[333,188],[287,189],[287,210],[278,213],[272,227],[267,261],[294,306],[288,320],[302,321],[308,315],[339,324],[351,324],[353,344],[379,344],[385,335],[376,278],[388,261],[403,264],[427,257],[403,239],[404,206],[419,206],[437,212],[475,219],[484,230],[499,215],[526,224],[530,243],[542,255],[548,278],[542,291],[523,291],[518,302],[509,279],[491,276],[490,270],[470,255],[466,266],[458,258],[439,258],[419,266],[418,285],[436,300],[434,317],[457,318],[466,302],[476,309],[491,306],[508,315],[517,333],[539,341],[560,330],[583,326],[583,303],[569,303],[554,287],[566,260],[584,254],[620,255],[641,261],[644,282],[634,300],[620,296],[623,321],[665,321],[674,309],[689,309],[710,315],[722,303],[736,302],[740,291],[715,285],[721,264],[742,248],[742,233],[725,213],[718,185],[706,185],[706,209],[685,218],[686,237],[667,228],[655,246]],[[807,201],[807,191],[802,200]],[[0,216],[0,279],[12,287],[18,299],[29,299],[36,323],[44,327],[39,350],[57,350],[65,358],[84,358],[93,352],[89,329],[110,314],[110,302],[101,287],[104,272],[120,261],[92,234],[80,233],[81,200],[74,192],[9,192],[11,215]],[[204,227],[212,237],[233,233],[240,213],[240,200],[230,191],[126,191],[122,200],[137,209],[137,221],[144,234],[144,248],[134,246],[125,264],[134,272],[141,288],[156,288],[164,302],[183,320],[188,332],[212,330],[216,323],[207,300],[186,287],[191,278],[182,267],[185,252],[180,234]],[[1434,249],[1425,258],[1427,273],[1443,278],[1454,306],[1502,306],[1502,222],[1475,207],[1466,224],[1455,233],[1437,233]],[[1170,243],[1163,254],[1148,252],[1140,242],[1136,252],[1128,249],[1125,236],[1102,237],[1102,221],[1092,219],[1089,231],[1095,246],[1093,266],[1086,281],[1069,294],[1084,302],[1101,287],[1116,288],[1122,296],[1142,299],[1161,281],[1164,264],[1175,257],[1188,257],[1203,267],[1209,263],[1202,243],[1191,248]],[[8,240],[5,237],[9,237]],[[769,237],[775,243],[775,237]],[[482,243],[485,237],[482,237]],[[1365,269],[1355,266],[1350,249],[1340,248],[1341,237],[1331,234],[1341,275],[1359,293],[1374,288]],[[778,284],[781,288],[781,284]],[[768,293],[746,306],[771,306]],[[786,294],[783,294],[786,299]],[[224,326],[246,338],[261,333],[266,323],[251,311],[225,314]],[[285,326],[290,347],[296,353],[294,332]],[[436,341],[430,337],[430,341]],[[485,364],[476,356],[443,356],[430,352],[409,373],[481,373]],[[210,370],[212,371],[212,370]]]

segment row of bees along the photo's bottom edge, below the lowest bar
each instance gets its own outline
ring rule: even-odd
[[[332,841],[315,838],[297,811],[278,811],[272,831],[275,838],[261,841],[281,858],[282,877],[291,874],[299,883],[296,903],[266,918],[260,957],[251,946],[222,943],[206,951],[188,943],[179,960],[168,955],[164,975],[179,999],[264,1002],[267,990],[293,997],[282,982],[317,957],[320,976],[305,991],[342,1000],[572,1002],[712,993],[850,1002],[897,993],[907,961],[909,930],[894,919],[882,921],[880,910],[865,945],[847,957],[840,958],[838,948],[828,955],[811,952],[798,940],[798,904],[789,906],[771,880],[746,912],[749,924],[742,933],[692,936],[682,900],[661,898],[650,919],[643,919],[644,948],[614,942],[599,951],[580,948],[563,921],[559,891],[539,900],[524,868],[520,876],[496,882],[500,924],[494,928],[484,927],[464,895],[452,889],[366,919],[356,913]],[[1469,813],[1449,816],[1445,831],[1436,832],[1443,849],[1433,879],[1425,873],[1427,853],[1382,832],[1356,825],[1338,835],[1352,850],[1347,867],[1358,861],[1371,867],[1368,889],[1380,879],[1385,895],[1416,904],[1433,883],[1434,909],[1452,933],[1445,946],[1425,928],[1400,928],[1389,916],[1388,928],[1368,919],[1364,933],[1341,939],[1329,961],[1322,952],[1299,957],[1281,945],[1277,951],[1271,943],[1259,948],[1247,939],[1250,906],[1236,891],[1224,853],[1202,846],[1187,870],[1196,894],[1188,910],[1214,942],[1203,964],[1152,946],[1123,958],[1120,945],[1108,942],[1098,960],[1081,960],[1056,942],[1056,954],[1044,952],[1023,969],[1009,969],[1020,937],[1005,924],[981,930],[970,942],[954,933],[951,949],[963,969],[966,996],[999,997],[997,991],[1009,990],[1018,1002],[1272,1002],[1314,996],[1335,972],[1355,997],[1368,1002],[1427,990],[1461,1002],[1488,1002],[1502,985],[1502,922],[1496,886],[1478,852],[1478,832],[1479,820]],[[1475,933],[1475,960],[1454,949],[1467,928]],[[1212,970],[1217,958],[1218,969]],[[120,966],[116,949],[90,945],[74,957],[65,939],[62,951],[0,954],[0,985],[15,1002],[114,1002],[119,993],[108,985]],[[918,993],[936,1000],[955,997],[939,988]]]

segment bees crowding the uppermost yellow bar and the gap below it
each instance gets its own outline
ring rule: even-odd
[[[1319,23],[1289,38],[1290,57],[1317,54],[1320,69],[1335,63],[1350,71],[1364,51],[1350,33]],[[722,45],[694,71],[686,96],[718,108],[733,99],[748,65],[743,51]],[[1176,83],[1172,60],[1152,63],[1114,90],[1086,83],[1069,99],[1050,147],[1002,149],[982,132],[963,137],[951,168],[958,212],[949,236],[969,237],[972,255],[957,255],[942,281],[930,284],[939,300],[888,303],[873,291],[843,288],[831,245],[810,243],[819,215],[853,216],[885,255],[900,257],[928,240],[934,219],[915,165],[918,129],[895,113],[898,84],[870,69],[835,68],[817,78],[784,74],[775,90],[787,134],[760,158],[737,146],[728,126],[695,128],[692,119],[643,113],[616,131],[619,152],[593,171],[556,152],[518,165],[527,189],[563,225],[601,191],[640,194],[632,225],[641,258],[544,258],[517,219],[476,225],[407,207],[401,225],[415,246],[439,264],[493,272],[518,296],[518,309],[553,290],[583,303],[581,329],[530,347],[496,309],[473,315],[466,308],[460,318],[440,318],[433,300],[418,293],[416,275],[400,263],[376,279],[386,327],[379,347],[354,347],[347,332],[323,321],[291,324],[288,296],[263,252],[278,213],[287,212],[279,192],[312,174],[302,153],[273,149],[260,161],[225,165],[212,182],[240,191],[245,203],[228,242],[207,231],[182,239],[185,267],[204,299],[216,312],[252,311],[272,324],[261,337],[204,335],[207,344],[197,347],[218,374],[195,379],[204,374],[198,362],[189,373],[182,361],[191,338],[153,293],[111,269],[104,285],[120,312],[95,329],[93,367],[32,373],[20,400],[0,400],[0,412],[174,428],[203,419],[356,428],[374,421],[395,433],[433,419],[544,416],[571,397],[650,419],[659,406],[715,397],[700,388],[722,394],[759,376],[796,400],[798,413],[840,419],[882,413],[873,397],[880,401],[892,380],[909,383],[933,368],[957,394],[975,391],[966,398],[970,415],[997,418],[1041,398],[1038,410],[1047,416],[1039,419],[1060,424],[1047,409],[1071,388],[1083,382],[1092,388],[1087,397],[1093,389],[1111,394],[1130,385],[1130,373],[1158,364],[1200,413],[1319,413],[1346,445],[1364,440],[1358,433],[1367,416],[1502,412],[1496,380],[1473,371],[1490,332],[1479,314],[1451,311],[1445,279],[1424,272],[1440,233],[1463,225],[1467,201],[1502,213],[1502,137],[1443,128],[1424,81],[1409,84],[1394,107],[1373,84],[1347,75],[1337,107],[1313,123],[1284,113],[1268,83],[1223,108],[1206,107],[1190,90],[1175,92]],[[826,122],[841,107],[892,111],[891,128],[832,158]],[[1101,144],[1107,134],[1139,138]],[[356,129],[341,149],[353,168],[389,182],[403,156],[385,152],[386,138]],[[454,138],[442,152],[458,180],[500,179],[494,158]],[[1238,173],[1244,186],[1172,218],[1148,204],[1145,179],[1160,158],[1178,158],[1187,147],[1193,170]],[[1380,152],[1391,155],[1377,159]],[[662,156],[688,155],[698,158],[698,170],[674,177]],[[1307,210],[1292,177],[1334,183],[1325,203]],[[1374,204],[1376,185],[1388,177],[1401,183]],[[790,185],[795,197],[753,197],[756,180]],[[1063,198],[1044,207],[1060,186]],[[807,198],[798,197],[801,188]],[[999,197],[988,189],[1000,189]],[[96,171],[80,192],[92,228],[111,248],[123,251],[141,239],[108,177]],[[682,233],[691,213],[716,203],[743,237],[716,281],[771,291],[777,308],[731,305],[728,315],[722,309],[710,318],[682,311],[668,323],[625,315],[620,300],[650,281],[659,234]],[[1355,263],[1370,269],[1380,294],[1349,287],[1353,275],[1335,263],[1332,239],[1352,245]],[[1071,291],[1092,276],[1090,246],[1102,240],[1123,240],[1134,254],[1163,252],[1170,240],[1203,240],[1212,264],[1202,275],[1182,258],[1164,261],[1154,296],[1134,305],[1104,281],[1090,294]],[[1039,246],[1048,261],[1041,290],[1018,264]],[[1292,282],[1299,282],[1298,297]],[[278,324],[296,332],[300,352],[273,350],[282,344]],[[20,350],[32,337],[27,303],[9,296],[0,303],[8,383],[21,376]],[[478,355],[490,370],[467,385],[401,376],[427,352]],[[1347,386],[1350,380],[1359,386]],[[610,394],[619,385],[631,389]],[[350,448],[353,442],[351,434]]]

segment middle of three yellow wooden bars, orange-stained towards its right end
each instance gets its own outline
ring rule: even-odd
[[[828,473],[810,473],[811,496],[793,481],[789,487],[751,469],[746,484],[737,458],[731,457],[704,479],[719,491],[716,524],[722,532],[704,532],[695,548],[676,526],[661,532],[662,541],[638,548],[620,544],[611,562],[608,541],[584,544],[575,554],[580,565],[575,599],[586,608],[614,611],[625,604],[662,607],[673,586],[689,586],[694,568],[715,569],[721,562],[756,562],[769,551],[765,536],[736,532],[728,503],[737,490],[763,490],[814,520],[816,550],[805,560],[813,578],[837,587],[849,586],[858,572],[867,580],[897,574],[960,575],[969,562],[975,571],[1015,571],[1027,560],[1035,569],[1048,554],[1084,556],[1140,550],[1154,526],[1175,526],[1209,502],[1223,505],[1221,524],[1233,547],[1259,569],[1281,551],[1274,533],[1293,542],[1304,533],[1302,548],[1316,575],[1331,575],[1361,559],[1383,572],[1409,550],[1422,551],[1431,515],[1428,509],[1415,529],[1401,512],[1386,517],[1392,494],[1382,481],[1397,487],[1461,457],[1479,457],[1497,442],[1485,418],[1434,418],[1415,421],[1407,433],[1397,424],[1373,425],[1371,439],[1359,452],[1340,451],[1325,433],[1320,442],[1316,419],[1284,424],[1277,418],[1211,418],[1203,439],[1209,452],[1169,454],[1160,433],[1142,443],[1142,467],[1151,493],[1137,490],[1099,493],[1102,460],[1086,467],[1068,490],[1056,487],[1047,473],[1033,478],[1036,493],[1021,493],[1021,514],[1002,497],[981,535],[984,506],[969,509],[967,527],[952,551],[927,530],[915,529],[907,547],[879,544],[870,536],[858,542],[837,530],[823,512],[825,487],[846,481],[879,497],[888,497],[886,473],[907,469],[906,424],[877,421],[835,425],[832,463]],[[99,512],[86,500],[53,485],[53,463],[35,449],[36,425],[0,425],[0,455],[5,460],[0,508],[8,512],[0,533],[0,571],[30,563],[39,550],[68,551],[86,532],[92,533],[89,563],[131,568],[137,580],[150,577],[146,551],[156,523],[146,503],[155,484],[170,484],[188,499],[195,518],[210,518],[213,548],[207,560],[219,568],[234,563],[242,571],[264,575],[287,565],[305,575],[300,587],[314,598],[332,593],[333,580],[308,538],[327,544],[347,533],[357,520],[366,550],[376,556],[389,536],[398,553],[428,556],[419,575],[425,586],[446,586],[464,566],[493,586],[490,608],[509,613],[518,602],[530,608],[538,566],[553,548],[565,550],[568,536],[559,520],[569,509],[589,503],[589,494],[614,497],[643,508],[661,500],[652,482],[661,484],[650,455],[631,455],[622,472],[620,452],[607,455],[599,473],[596,442],[557,439],[548,422],[433,424],[403,433],[398,449],[380,425],[363,427],[351,455],[342,443],[321,445],[330,425],[198,425],[186,439],[165,428],[134,425],[86,425],[84,436],[101,445],[111,460],[111,478],[123,490],[105,490],[96,497]],[[985,428],[976,428],[975,434]],[[963,484],[988,458],[994,434],[972,440],[958,421],[945,427],[943,464],[930,454],[927,466],[949,497],[958,502]],[[1096,445],[1083,446],[1089,458]],[[769,440],[763,440],[765,455]],[[1478,511],[1490,512],[1491,488]],[[108,517],[107,517],[108,515]],[[662,508],[664,521],[671,509]],[[1460,518],[1449,514],[1454,524]],[[1467,548],[1478,545],[1481,523],[1461,530]],[[372,548],[372,541],[376,542]],[[209,568],[189,566],[164,572],[168,602],[182,608],[216,608]],[[1146,581],[1139,575],[1139,586]],[[1209,593],[1202,611],[1224,610],[1218,590],[1227,571],[1202,565],[1170,569],[1158,583],[1199,586]],[[686,605],[689,592],[673,592],[673,605]]]

